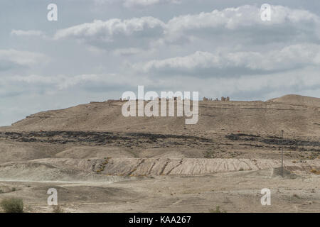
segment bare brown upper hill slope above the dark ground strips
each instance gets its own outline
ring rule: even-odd
[[[112,131],[201,135],[255,133],[320,135],[320,99],[287,95],[269,101],[200,101],[199,120],[186,125],[184,117],[127,117],[124,102],[92,102],[68,109],[27,116],[2,131]],[[1,130],[1,128],[0,128]]]

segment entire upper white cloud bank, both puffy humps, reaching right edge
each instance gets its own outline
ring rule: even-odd
[[[134,1],[151,4],[154,1]],[[283,42],[284,40],[320,40],[320,18],[302,9],[272,6],[271,21],[262,21],[260,8],[240,6],[221,11],[177,16],[167,23],[151,16],[107,21],[95,20],[78,26],[65,28],[55,33],[55,39],[75,38],[97,48],[147,49],[155,45],[183,45],[183,40],[204,40],[222,42],[220,35],[238,36],[233,43],[250,44]],[[308,28],[306,28],[308,24]],[[268,35],[269,34],[269,35]],[[274,35],[275,34],[275,35]],[[232,43],[230,43],[232,45]]]

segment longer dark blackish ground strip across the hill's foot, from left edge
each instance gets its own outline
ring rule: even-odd
[[[0,138],[17,142],[38,143],[81,143],[87,145],[116,145],[122,147],[146,147],[157,145],[198,145],[202,142],[213,143],[213,140],[191,135],[169,135],[153,133],[112,133],[95,131],[38,131],[38,132],[0,132]]]

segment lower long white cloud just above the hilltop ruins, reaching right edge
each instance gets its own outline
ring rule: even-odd
[[[306,65],[320,66],[320,45],[300,44],[289,45],[280,50],[269,52],[201,52],[197,51],[184,57],[171,57],[164,60],[151,60],[149,62],[132,65],[139,72],[166,72],[168,74],[183,74],[193,72],[197,75],[199,70],[209,69],[210,74],[215,69],[228,70],[229,68],[242,68],[247,70],[290,70]],[[228,73],[228,72],[227,72]],[[238,74],[241,74],[239,71]]]

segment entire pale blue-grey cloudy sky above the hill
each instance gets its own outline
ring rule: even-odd
[[[51,3],[58,21],[47,19]],[[1,126],[138,85],[320,97],[319,0],[1,0],[0,11]]]

